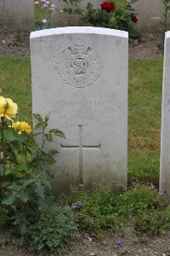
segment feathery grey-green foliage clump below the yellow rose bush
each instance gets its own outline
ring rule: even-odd
[[[40,218],[27,231],[31,248],[37,253],[60,253],[65,243],[77,238],[77,224],[68,207],[42,207]],[[46,255],[46,254],[45,254]]]

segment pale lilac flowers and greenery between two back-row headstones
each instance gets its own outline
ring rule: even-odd
[[[35,4],[36,30],[51,27],[51,14],[56,9],[51,0],[37,0]]]

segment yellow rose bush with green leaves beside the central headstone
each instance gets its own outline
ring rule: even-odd
[[[39,216],[41,207],[54,200],[50,193],[53,175],[45,165],[54,163],[56,150],[45,152],[44,143],[53,137],[65,137],[62,131],[47,131],[49,114],[45,119],[35,113],[35,130],[26,121],[15,121],[18,106],[0,96],[0,224],[11,221],[20,228],[21,235]],[[42,137],[38,146],[35,137]]]

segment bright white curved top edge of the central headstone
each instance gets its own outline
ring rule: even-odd
[[[50,28],[50,29],[31,32],[31,39],[59,35],[59,34],[74,34],[74,33],[80,33],[80,34],[96,33],[99,35],[128,38],[128,33],[122,30],[103,28],[103,27],[94,27],[94,26],[66,26],[66,27],[56,27],[56,28]]]

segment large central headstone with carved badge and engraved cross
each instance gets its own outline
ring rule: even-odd
[[[69,185],[127,186],[127,32],[65,27],[31,32],[33,113],[64,131],[54,192]]]

